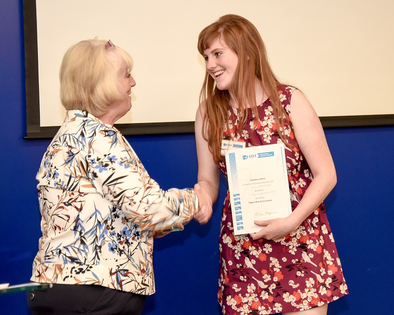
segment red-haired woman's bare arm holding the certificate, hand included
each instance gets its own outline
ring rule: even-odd
[[[334,162],[319,117],[305,95],[298,90],[292,95],[291,115],[299,149],[306,158],[314,179],[289,217],[256,221],[258,225],[266,227],[258,233],[251,234],[253,239],[264,237],[276,240],[296,230],[317,209],[336,184]]]

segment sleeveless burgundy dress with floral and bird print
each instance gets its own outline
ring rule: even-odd
[[[288,118],[292,87],[279,88],[278,94]],[[248,122],[237,132],[236,109],[229,106],[230,130],[225,127],[223,139],[232,134],[246,146],[282,143],[276,130],[269,99],[258,106],[260,120],[256,125],[252,110]],[[294,150],[286,151],[289,189],[294,210],[313,180],[309,166],[298,149],[289,126],[280,128]],[[227,178],[226,160],[219,167]],[[218,300],[223,314],[276,314],[297,312],[330,303],[348,294],[326,209],[322,203],[296,231],[280,241],[253,240],[249,234],[234,235],[230,194],[223,206],[219,237],[220,277]]]

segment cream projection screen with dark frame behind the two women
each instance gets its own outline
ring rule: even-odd
[[[24,0],[27,136],[51,138],[65,109],[59,67],[72,44],[111,39],[134,61],[125,134],[194,130],[205,67],[199,32],[224,14],[260,31],[281,81],[301,89],[323,126],[394,124],[394,2],[386,0]]]

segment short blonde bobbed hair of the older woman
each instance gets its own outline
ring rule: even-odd
[[[112,43],[111,43],[112,44]],[[106,40],[87,39],[71,46],[60,67],[60,99],[67,109],[87,111],[101,117],[108,105],[127,97],[119,83],[119,75],[132,68],[131,56]]]

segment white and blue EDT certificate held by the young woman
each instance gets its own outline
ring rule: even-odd
[[[284,144],[228,151],[226,164],[234,235],[260,231],[255,220],[291,214]]]

